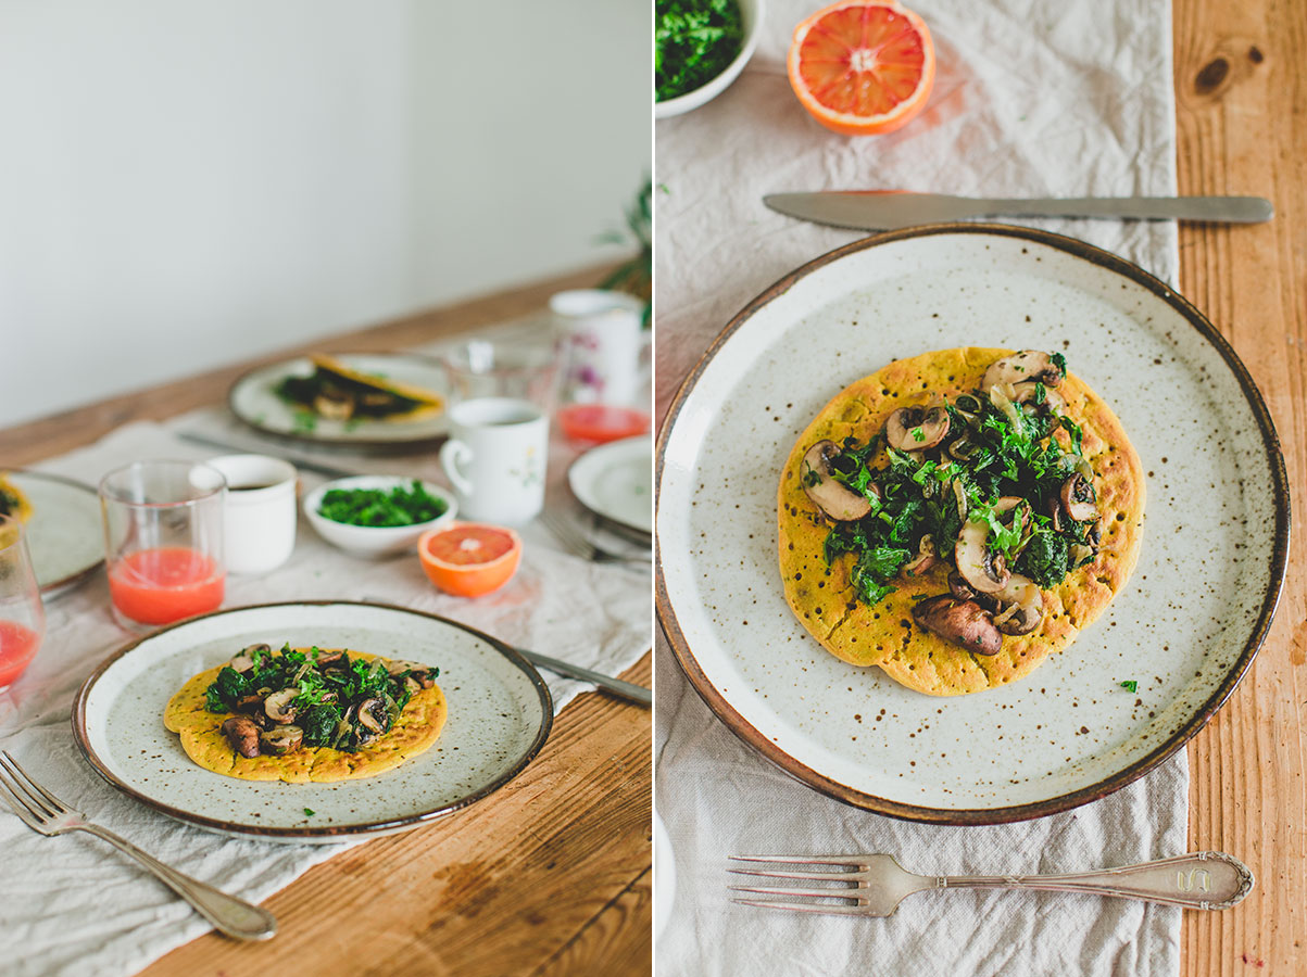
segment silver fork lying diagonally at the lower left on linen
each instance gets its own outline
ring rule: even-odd
[[[86,815],[72,810],[27,776],[27,772],[18,765],[8,750],[0,752],[0,786],[4,788],[0,797],[33,831],[50,837],[69,831],[85,831],[103,839],[154,873],[159,882],[182,896],[195,906],[200,916],[229,937],[269,939],[277,933],[277,921],[267,909],[220,892],[213,886],[192,879],[190,875],[183,875],[148,856],[131,841],[124,841],[107,828],[88,822]]]

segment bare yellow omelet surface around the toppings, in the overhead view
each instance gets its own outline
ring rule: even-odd
[[[890,363],[840,392],[795,443],[780,475],[778,520],[786,600],[826,650],[853,665],[877,665],[895,682],[928,695],[963,695],[1013,682],[1067,648],[1125,586],[1138,559],[1144,529],[1144,470],[1116,414],[1084,380],[1068,375],[1057,392],[1081,426],[1082,453],[1094,468],[1102,542],[1093,563],[1044,590],[1044,617],[1029,635],[1002,639],[997,654],[967,652],[912,620],[919,596],[948,593],[949,567],[940,564],[869,607],[848,580],[852,555],[826,567],[829,524],[801,483],[806,451],[822,439],[865,443],[889,415],[935,396],[953,398],[980,384],[991,363],[1013,350],[965,349],[924,353]],[[1059,439],[1065,432],[1059,431]]]

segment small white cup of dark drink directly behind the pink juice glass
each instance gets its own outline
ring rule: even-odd
[[[209,465],[227,479],[223,562],[233,573],[268,573],[295,549],[295,466],[267,455],[223,455]]]

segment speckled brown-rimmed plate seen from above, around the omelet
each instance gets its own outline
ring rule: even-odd
[[[1068,650],[940,699],[839,661],[795,619],[776,479],[847,384],[967,345],[1063,350],[1124,422],[1148,511],[1134,576]],[[818,790],[924,822],[1052,814],[1174,754],[1248,669],[1287,558],[1280,444],[1212,324],[1119,257],[999,225],[878,235],[776,282],[677,393],[656,475],[659,617],[699,695]]]

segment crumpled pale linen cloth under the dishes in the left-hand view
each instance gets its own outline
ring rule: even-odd
[[[167,426],[133,423],[101,441],[37,465],[95,483],[110,468],[136,458],[203,460],[218,453],[179,440],[174,430],[240,439],[222,411],[201,410]],[[550,451],[548,495],[565,504],[565,473],[574,453]],[[333,455],[344,469],[403,472],[443,482],[429,458]],[[320,475],[302,473],[306,488]],[[442,614],[516,644],[609,674],[630,667],[648,650],[650,573],[587,563],[563,553],[546,530],[521,530],[523,562],[514,580],[493,596],[467,601],[437,592],[416,558],[367,562],[318,538],[301,517],[290,562],[263,577],[230,576],[225,606],[298,598],[379,598]],[[47,635],[22,678],[0,692],[0,748],[91,820],[118,832],[161,861],[254,901],[293,882],[318,862],[358,842],[293,845],[229,839],[165,818],[119,794],[82,760],[72,738],[71,704],[81,682],[129,640],[108,611],[103,575],[47,602]],[[555,713],[591,686],[541,673]],[[476,806],[465,815],[476,816]],[[188,905],[125,856],[85,835],[47,839],[0,806],[0,938],[5,977],[131,974],[209,930]]]

